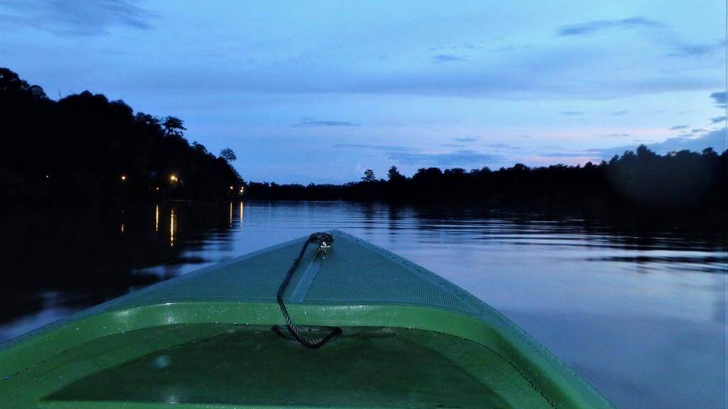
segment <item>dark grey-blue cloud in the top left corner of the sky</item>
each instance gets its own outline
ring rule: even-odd
[[[119,26],[147,30],[155,17],[130,0],[4,1],[0,22],[27,25],[62,36],[100,36]]]

